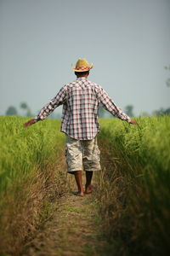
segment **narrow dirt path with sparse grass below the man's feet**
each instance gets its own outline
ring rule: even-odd
[[[53,218],[44,224],[22,255],[105,255],[100,224],[95,192],[84,197],[68,193],[56,203]]]

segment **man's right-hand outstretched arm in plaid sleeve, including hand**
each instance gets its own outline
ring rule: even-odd
[[[127,116],[126,113],[123,113],[120,108],[118,108],[115,104],[115,102],[112,101],[111,97],[107,95],[105,90],[103,90],[102,87],[99,86],[99,102],[112,115],[116,116],[118,119],[122,119],[127,121],[127,123],[132,125],[137,125],[136,120],[130,119],[129,116]]]

